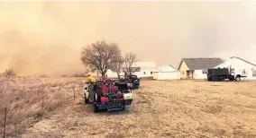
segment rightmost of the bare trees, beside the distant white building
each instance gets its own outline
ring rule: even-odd
[[[138,62],[137,55],[132,52],[124,55],[124,72],[133,74],[140,71],[140,67],[136,65]]]

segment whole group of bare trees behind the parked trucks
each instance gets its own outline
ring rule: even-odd
[[[90,71],[98,71],[102,77],[105,77],[108,69],[117,73],[119,79],[121,72],[133,74],[139,69],[135,65],[138,62],[136,54],[130,52],[122,55],[118,44],[105,40],[82,47],[80,60]]]

